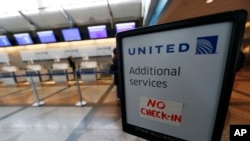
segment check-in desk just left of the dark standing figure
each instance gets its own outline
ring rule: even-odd
[[[68,82],[67,63],[55,63],[52,65],[52,68],[53,68],[51,70],[52,79],[56,83]]]

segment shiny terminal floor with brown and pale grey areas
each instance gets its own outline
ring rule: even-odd
[[[144,141],[124,133],[116,88],[109,77],[98,82],[46,82],[34,89],[26,83],[0,86],[0,141]],[[222,141],[229,125],[250,124],[250,69],[237,73]],[[80,94],[80,95],[79,95]],[[76,106],[79,98],[86,101]]]

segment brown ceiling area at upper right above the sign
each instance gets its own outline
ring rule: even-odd
[[[238,9],[248,11],[247,20],[250,24],[250,0],[213,0],[212,3],[206,3],[206,0],[169,0],[167,9],[158,23],[161,24]],[[250,40],[250,26],[245,28],[244,39]]]

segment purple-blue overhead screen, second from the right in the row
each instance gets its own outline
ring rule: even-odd
[[[89,26],[89,37],[90,39],[107,38],[107,28],[105,25]]]

